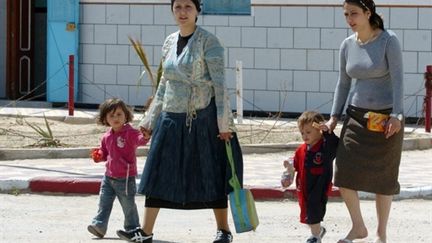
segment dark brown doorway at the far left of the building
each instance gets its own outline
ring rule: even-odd
[[[46,100],[46,0],[6,0],[6,98]]]

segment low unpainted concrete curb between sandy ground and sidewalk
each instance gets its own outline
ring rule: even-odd
[[[301,143],[287,144],[246,144],[241,145],[244,154],[277,153],[294,151]],[[422,150],[432,148],[432,137],[406,138],[402,149]],[[16,159],[57,159],[57,158],[88,158],[91,148],[34,148],[34,149],[0,149],[0,160]],[[146,156],[148,146],[138,148],[138,156]]]

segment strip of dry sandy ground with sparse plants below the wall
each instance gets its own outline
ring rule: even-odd
[[[63,121],[35,117],[0,116],[0,148],[32,147],[95,147],[106,127],[89,121],[70,124]],[[138,121],[132,124],[137,127]],[[49,129],[48,129],[49,127]],[[236,125],[242,144],[288,143],[301,141],[295,123],[274,120],[253,121],[252,124]],[[49,134],[52,136],[42,135]],[[46,139],[47,138],[47,139]]]

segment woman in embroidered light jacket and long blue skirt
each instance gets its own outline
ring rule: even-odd
[[[179,31],[162,47],[162,79],[140,123],[143,133],[152,135],[139,186],[146,196],[143,229],[125,235],[151,242],[160,208],[212,208],[214,242],[231,242],[225,141],[231,141],[240,180],[243,162],[225,83],[224,48],[196,25],[199,0],[171,0],[171,10]]]

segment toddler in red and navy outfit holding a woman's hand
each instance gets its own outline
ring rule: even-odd
[[[294,155],[294,164],[288,160],[284,166],[295,170],[296,188],[300,205],[300,222],[308,224],[311,236],[307,243],[319,243],[326,233],[321,226],[328,192],[332,188],[333,159],[339,138],[324,124],[324,117],[314,111],[305,111],[297,120],[304,143]],[[294,168],[292,168],[294,167]]]

